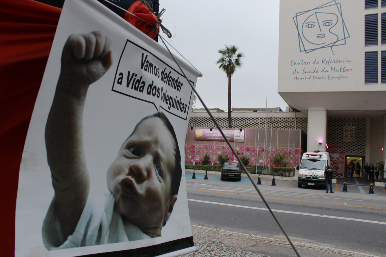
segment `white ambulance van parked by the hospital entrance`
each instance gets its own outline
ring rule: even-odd
[[[324,171],[326,166],[330,166],[330,155],[327,152],[312,151],[303,153],[300,166],[296,167],[299,171],[298,187],[322,186],[326,187]]]

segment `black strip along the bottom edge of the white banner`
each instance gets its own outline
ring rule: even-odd
[[[175,252],[194,246],[193,237],[185,237],[162,244],[151,245],[136,249],[117,252],[103,252],[99,254],[79,255],[78,257],[154,257],[169,252]]]

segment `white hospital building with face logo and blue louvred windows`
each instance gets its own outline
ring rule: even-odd
[[[278,72],[308,117],[307,151],[329,151],[335,176],[385,160],[386,1],[281,0]]]

